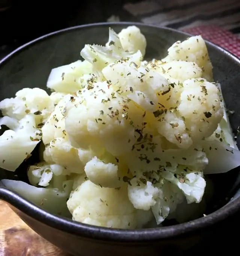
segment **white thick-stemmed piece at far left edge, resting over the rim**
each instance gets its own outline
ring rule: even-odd
[[[0,167],[14,172],[31,155],[41,137],[31,114],[24,116],[18,126],[11,128],[14,130],[7,130],[0,136]]]

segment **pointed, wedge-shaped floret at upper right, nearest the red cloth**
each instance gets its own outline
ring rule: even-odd
[[[208,56],[205,41],[201,36],[191,36],[187,40],[177,41],[168,49],[168,56],[163,61],[185,60],[195,62],[202,68],[202,76],[207,81],[213,81],[213,66]]]

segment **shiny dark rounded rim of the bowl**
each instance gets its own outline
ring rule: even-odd
[[[18,47],[17,49],[13,50],[7,56],[0,60],[0,68],[4,65],[7,61],[11,59],[15,54],[18,54],[22,50],[30,47],[31,45],[42,41],[46,38],[49,38],[54,35],[59,35],[61,33],[69,32],[71,30],[78,30],[84,29],[88,27],[99,27],[99,26],[139,26],[139,27],[153,27],[154,29],[159,30],[170,30],[174,33],[178,33],[179,35],[186,35],[192,36],[189,33],[181,32],[179,30],[167,28],[167,27],[160,27],[154,25],[148,25],[139,22],[103,22],[103,23],[92,23],[92,24],[84,24],[74,27],[68,27],[65,29],[57,30],[46,35],[40,36],[26,44]],[[213,48],[221,51],[223,54],[227,55],[230,59],[234,62],[239,64],[240,66],[240,59],[235,56],[234,54],[230,53],[228,50],[223,49],[222,47],[215,45],[211,42],[205,40],[207,45],[210,45]],[[1,181],[1,180],[0,180]],[[1,182],[0,182],[1,183]],[[205,216],[200,217],[198,219],[188,221],[181,224],[176,224],[174,226],[167,226],[167,227],[156,227],[150,229],[113,229],[107,227],[98,227],[92,226],[89,224],[79,223],[77,221],[73,221],[66,217],[60,217],[45,210],[41,209],[40,207],[36,206],[34,203],[29,202],[28,200],[24,199],[14,191],[2,186],[0,184],[0,199],[6,201],[10,204],[12,208],[20,215],[19,211],[23,212],[24,214],[34,218],[41,223],[44,223],[48,226],[51,226],[55,229],[62,230],[66,233],[75,234],[78,236],[83,236],[86,238],[94,238],[99,240],[108,240],[108,241],[128,241],[128,242],[139,242],[139,241],[150,241],[156,239],[166,239],[166,238],[173,238],[175,236],[179,236],[181,234],[186,234],[190,232],[195,232],[204,228],[207,228],[213,224],[216,224],[219,221],[224,220],[229,215],[235,214],[237,211],[240,210],[240,197],[230,201],[227,205],[223,206],[222,208],[214,211],[213,213]]]

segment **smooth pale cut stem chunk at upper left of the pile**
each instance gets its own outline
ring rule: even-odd
[[[79,78],[92,72],[92,64],[87,61],[77,60],[69,65],[52,69],[47,87],[61,93],[74,93],[82,88]]]

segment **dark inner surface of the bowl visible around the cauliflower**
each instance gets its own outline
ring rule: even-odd
[[[129,23],[113,23],[74,27],[43,36],[21,47],[0,62],[0,100],[13,97],[23,87],[46,89],[46,81],[52,68],[81,59],[80,51],[85,44],[104,45],[108,41],[108,27],[120,32],[128,25]],[[189,36],[174,30],[144,24],[137,26],[147,39],[145,56],[147,60],[166,56],[167,49],[175,41],[184,40]],[[214,80],[221,84],[226,107],[234,111],[234,114],[230,116],[230,122],[233,131],[236,131],[240,120],[240,61],[210,43],[207,43],[207,47],[214,67]],[[36,157],[37,155],[33,154],[28,161],[34,162]],[[26,168],[28,163],[23,163],[15,173],[0,169],[0,179],[27,181]],[[228,173],[206,177],[208,179],[207,184],[213,184],[213,194],[210,199],[207,198],[205,214],[219,209],[231,197],[239,196],[237,193],[240,183],[239,170],[237,168]],[[165,225],[170,224],[174,223],[171,221],[165,223]]]

